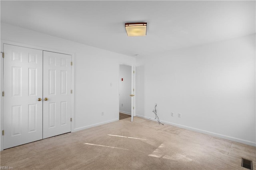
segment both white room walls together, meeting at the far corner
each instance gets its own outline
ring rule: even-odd
[[[164,123],[255,145],[255,35],[137,61],[2,23],[1,40],[75,54],[73,130],[118,120],[119,65],[137,62],[136,115],[154,119],[157,103]]]

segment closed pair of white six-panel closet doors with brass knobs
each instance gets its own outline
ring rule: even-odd
[[[4,44],[4,149],[71,131],[71,55]]]

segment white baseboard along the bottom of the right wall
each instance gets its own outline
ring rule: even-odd
[[[142,115],[137,115],[137,117],[141,117],[141,118],[144,118],[144,119],[149,119],[151,121],[156,121],[152,117],[146,117],[146,116],[142,116]],[[254,147],[256,146],[256,142],[252,142],[252,141],[249,141],[249,140],[235,138],[235,137],[232,137],[232,136],[226,136],[226,135],[223,135],[223,134],[218,134],[218,133],[214,133],[214,132],[209,132],[207,130],[202,130],[202,129],[198,129],[198,128],[192,128],[192,127],[188,127],[188,126],[184,126],[184,125],[179,125],[179,124],[176,124],[176,123],[171,123],[171,122],[166,122],[166,121],[161,121],[161,120],[160,120],[160,122],[164,123],[164,124],[167,124],[167,125],[172,125],[172,126],[175,126],[175,127],[180,127],[180,128],[200,132],[200,133],[203,133],[203,134],[208,134],[208,135],[215,136],[215,137],[218,137],[218,138],[231,140],[231,141],[234,141],[234,142],[239,142],[239,143],[247,144],[247,145],[254,146]]]

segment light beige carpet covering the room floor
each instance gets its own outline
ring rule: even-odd
[[[1,166],[20,169],[241,169],[255,147],[134,117],[10,148]]]

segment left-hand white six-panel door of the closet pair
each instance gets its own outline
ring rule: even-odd
[[[42,139],[42,50],[4,44],[4,149]]]

